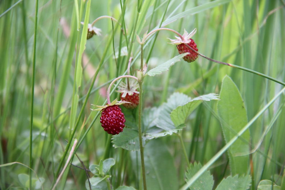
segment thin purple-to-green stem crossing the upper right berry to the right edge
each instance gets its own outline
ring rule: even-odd
[[[196,52],[197,54],[199,54],[200,56],[202,56],[203,58],[206,58],[207,60],[210,60],[212,62],[216,62],[216,63],[219,63],[219,64],[223,64],[223,65],[227,65],[227,66],[230,66],[230,67],[233,67],[233,68],[237,68],[237,69],[240,69],[240,70],[244,70],[244,71],[247,71],[247,72],[250,72],[250,73],[253,73],[253,74],[256,74],[256,75],[259,75],[259,76],[262,76],[264,78],[267,78],[269,80],[272,80],[274,82],[277,82],[279,84],[282,84],[283,86],[285,86],[285,82],[282,82],[282,81],[279,81],[273,77],[270,77],[268,75],[265,75],[263,73],[260,73],[260,72],[257,72],[257,71],[254,71],[254,70],[251,70],[251,69],[247,69],[247,68],[244,68],[244,67],[241,67],[241,66],[237,66],[237,65],[233,65],[233,64],[229,64],[229,63],[226,63],[226,62],[221,62],[221,61],[217,61],[217,60],[214,60],[214,59],[211,59],[211,58],[208,58],[207,56],[204,56],[203,54],[200,54],[199,52],[197,52],[196,50],[194,50],[192,47],[190,47],[188,44],[185,44],[188,48],[190,48],[192,51]]]

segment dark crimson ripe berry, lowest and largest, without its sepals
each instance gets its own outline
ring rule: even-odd
[[[119,134],[125,127],[125,116],[119,105],[112,105],[102,109],[100,122],[109,134]]]

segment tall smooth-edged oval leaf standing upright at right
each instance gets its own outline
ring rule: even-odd
[[[220,99],[217,105],[219,119],[225,142],[229,142],[247,124],[247,112],[243,99],[239,89],[229,76],[225,76],[223,79]],[[247,173],[249,140],[250,134],[247,130],[228,149],[233,175]]]

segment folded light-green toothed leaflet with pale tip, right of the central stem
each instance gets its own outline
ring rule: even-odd
[[[192,113],[192,111],[198,107],[203,101],[210,101],[210,100],[219,100],[218,96],[214,93],[202,95],[196,97],[194,99],[190,99],[190,101],[182,106],[178,106],[174,109],[171,114],[171,120],[174,123],[174,126],[180,126],[181,124],[185,123],[186,118]]]

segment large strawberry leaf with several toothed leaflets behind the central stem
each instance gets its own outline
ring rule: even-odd
[[[191,99],[185,94],[174,93],[166,103],[158,108],[146,109],[143,114],[143,132],[147,135],[143,137],[143,145],[146,140],[172,135],[185,127],[186,118],[203,101],[217,100],[217,95],[208,94]],[[128,116],[131,116],[130,111]],[[126,122],[126,126],[135,125],[135,118],[130,117],[131,121]],[[174,124],[175,122],[175,124]],[[136,126],[136,125],[135,125]],[[112,137],[115,148],[126,150],[139,150],[139,133],[137,129],[124,128],[123,132]],[[132,127],[134,128],[134,127]]]

